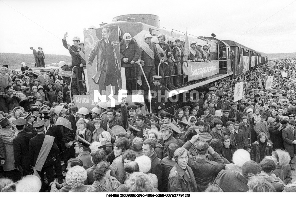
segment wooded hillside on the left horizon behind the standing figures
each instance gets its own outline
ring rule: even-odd
[[[45,65],[58,63],[61,60],[71,62],[71,57],[57,54],[45,54]],[[25,62],[28,67],[34,67],[35,59],[33,54],[0,53],[1,65],[7,64],[9,68],[16,69],[21,67],[22,62]]]

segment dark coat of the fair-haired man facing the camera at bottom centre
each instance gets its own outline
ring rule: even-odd
[[[189,173],[189,178],[178,163],[176,163],[172,170],[170,170],[170,175],[168,177],[168,192],[197,192],[192,169],[186,165],[186,170]]]

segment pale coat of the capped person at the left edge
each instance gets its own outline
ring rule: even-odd
[[[5,163],[2,165],[4,171],[15,170],[15,155],[13,152],[13,136],[15,131],[7,128],[0,129],[0,144],[3,142],[5,148]]]

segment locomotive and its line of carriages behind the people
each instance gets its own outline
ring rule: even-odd
[[[187,33],[181,32],[178,30],[166,30],[165,28],[161,28],[160,26],[160,17],[153,14],[126,14],[116,16],[112,19],[110,23],[102,23],[99,28],[111,27],[114,25],[118,25],[118,34],[120,40],[124,33],[128,32],[131,34],[132,38],[136,40],[139,46],[144,42],[144,35],[150,33],[152,35],[151,42],[157,43],[157,36],[161,33],[165,35],[166,40],[169,37],[179,38],[180,36],[185,37]],[[176,97],[176,91],[181,93],[182,91],[191,91],[191,90],[199,90],[201,86],[213,83],[215,81],[219,81],[222,78],[233,77],[236,68],[239,65],[239,61],[241,58],[241,54],[243,53],[244,59],[248,59],[248,65],[246,65],[247,70],[253,70],[258,67],[260,64],[263,64],[267,61],[266,57],[262,57],[260,52],[250,49],[246,46],[243,46],[235,41],[229,40],[219,40],[215,37],[209,36],[194,36],[191,34],[187,34],[189,40],[189,46],[191,41],[195,41],[196,43],[201,44],[211,44],[210,52],[211,52],[211,62],[215,62],[217,64],[217,72],[213,73],[213,75],[209,75],[206,78],[203,76],[195,79],[197,83],[184,86],[177,90],[168,91],[167,98]],[[230,51],[234,51],[234,62],[232,64],[233,69],[231,69],[231,60],[230,60]],[[255,64],[254,64],[255,58]],[[202,65],[204,62],[195,63]],[[125,77],[125,70],[121,70],[122,77]],[[157,71],[156,71],[157,73]],[[122,88],[126,88],[126,79],[122,78]],[[185,82],[184,82],[185,83]],[[173,92],[173,93],[172,93]],[[118,93],[114,93],[117,95]],[[198,94],[196,94],[195,99],[198,98]],[[189,96],[187,97],[189,99]],[[169,101],[169,100],[168,100]],[[182,103],[182,102],[180,102]],[[174,109],[177,108],[180,104],[178,102],[166,104],[166,109]]]

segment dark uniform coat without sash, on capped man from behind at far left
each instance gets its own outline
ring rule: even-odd
[[[30,171],[30,162],[29,162],[29,142],[33,138],[33,133],[20,131],[15,139],[13,140],[13,149],[15,156],[15,168],[22,167],[25,171]]]

